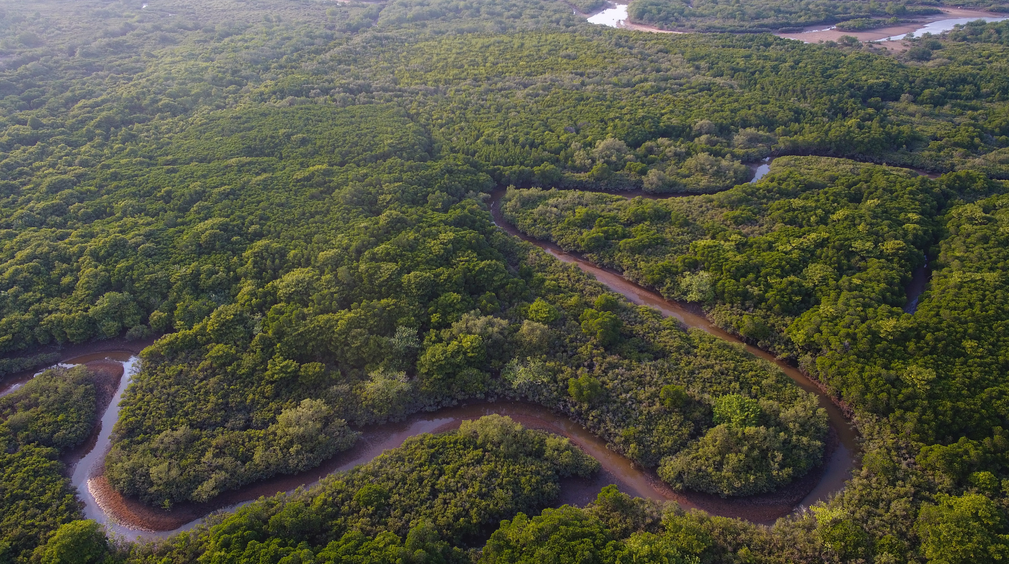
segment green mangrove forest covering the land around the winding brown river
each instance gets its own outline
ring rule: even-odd
[[[353,443],[353,426],[477,398],[562,411],[678,488],[774,491],[821,463],[811,394],[504,235],[483,201],[510,184],[719,192],[688,206],[519,191],[508,213],[794,356],[852,407],[867,444],[842,495],[772,529],[612,489],[538,515],[559,477],[594,465],[558,438],[482,420],[140,545],[77,519],[54,461],[67,447],[45,442],[94,421],[79,414],[86,385],[68,383],[38,402],[62,406],[59,426],[27,401],[3,408],[5,456],[23,462],[5,464],[2,490],[26,501],[5,505],[0,558],[962,562],[1006,550],[1005,24],[908,61],[600,30],[537,1],[51,2],[8,5],[2,29],[4,366],[30,364],[39,345],[163,335],[106,460],[126,494],[211,500],[314,467]],[[773,151],[947,174],[793,158],[732,188]],[[903,314],[925,253],[932,289]]]

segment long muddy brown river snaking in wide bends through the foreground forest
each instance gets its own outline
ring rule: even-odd
[[[767,171],[768,163],[765,161],[755,171],[755,177],[759,178]],[[282,491],[292,491],[302,485],[312,485],[332,472],[347,470],[365,463],[382,451],[402,445],[409,437],[421,433],[449,431],[457,428],[462,421],[489,414],[510,416],[527,427],[566,436],[600,462],[602,469],[592,478],[563,480],[560,498],[557,500],[558,504],[582,505],[594,499],[595,494],[602,486],[614,483],[621,490],[632,495],[657,500],[675,500],[685,509],[696,507],[712,515],[747,519],[759,524],[771,524],[797,507],[826,499],[830,494],[844,487],[857,464],[858,435],[843,410],[831,402],[815,382],[794,366],[778,360],[772,354],[746,344],[736,336],[715,327],[703,316],[702,312],[694,307],[666,300],[658,294],[624,278],[615,270],[599,267],[577,254],[564,251],[553,243],[540,241],[519,232],[501,216],[499,201],[503,194],[504,190],[495,191],[491,195],[489,207],[494,223],[507,233],[539,246],[564,262],[576,264],[582,270],[592,274],[598,281],[622,294],[635,304],[654,308],[666,317],[675,317],[688,328],[697,328],[727,341],[741,344],[755,356],[777,365],[803,389],[817,394],[820,407],[828,415],[831,428],[824,464],[803,478],[789,484],[782,491],[771,494],[721,498],[704,493],[677,492],[662,483],[653,471],[643,469],[628,458],[609,450],[602,439],[581,425],[564,416],[557,415],[543,406],[521,402],[477,402],[433,413],[415,414],[398,423],[359,429],[362,433],[361,440],[353,448],[334,456],[317,468],[294,475],[275,476],[238,490],[225,492],[212,503],[181,503],[172,511],[162,511],[123,497],[109,486],[102,475],[102,463],[111,443],[112,426],[119,417],[119,402],[131,375],[139,369],[139,360],[135,356],[136,350],[132,352],[106,351],[88,356],[67,358],[61,363],[65,366],[73,365],[94,361],[101,357],[119,362],[123,366],[123,376],[119,380],[114,398],[102,416],[101,431],[94,447],[89,452],[81,453],[80,460],[71,466],[73,469],[71,480],[78,488],[85,503],[85,517],[105,524],[111,533],[121,537],[129,539],[139,537],[147,540],[164,538],[191,529],[212,512],[234,510],[261,495],[272,495]],[[690,195],[650,196],[669,198]],[[925,273],[925,268],[921,268],[921,273],[916,272],[915,280],[912,280],[911,285],[914,288],[913,290],[910,287],[908,289],[909,308],[913,308],[911,304],[917,302],[917,294],[920,294],[920,289],[924,287],[922,276]],[[914,293],[913,302],[910,299],[912,292]],[[12,387],[8,387],[0,393],[8,392]]]

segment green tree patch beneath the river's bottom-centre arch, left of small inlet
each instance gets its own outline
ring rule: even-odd
[[[304,550],[302,561],[395,562],[404,548],[408,559],[421,549],[435,562],[466,561],[444,541],[479,542],[502,519],[549,504],[560,478],[588,476],[598,466],[567,439],[487,416],[456,432],[410,438],[308,490],[261,498],[176,546],[153,548],[150,557],[195,543],[215,562],[273,561]]]

